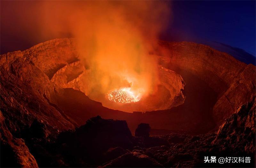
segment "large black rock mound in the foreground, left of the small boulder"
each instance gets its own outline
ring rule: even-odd
[[[132,134],[125,121],[102,119],[100,116],[89,119],[75,132],[61,133],[57,142],[65,144],[65,147],[61,145],[62,149],[59,150],[63,151],[62,155],[68,156],[68,164],[79,167],[86,166],[79,164],[79,159],[90,165],[99,164],[108,159],[107,153],[115,157],[126,153],[122,149],[130,149],[133,146]],[[108,157],[111,159],[111,156]]]

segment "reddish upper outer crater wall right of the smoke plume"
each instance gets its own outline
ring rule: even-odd
[[[213,89],[217,102],[212,115],[218,125],[255,96],[255,66],[227,53],[193,42],[160,42],[158,54],[165,67],[192,73]]]

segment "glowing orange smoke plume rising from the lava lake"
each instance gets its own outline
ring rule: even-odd
[[[129,88],[140,99],[156,91],[157,62],[149,52],[169,18],[164,3],[42,3],[42,31],[50,26],[51,33],[75,37],[79,59],[90,71],[89,95]]]

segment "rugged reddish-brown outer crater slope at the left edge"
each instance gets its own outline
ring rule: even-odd
[[[34,118],[43,120],[51,128],[73,129],[74,125],[63,111],[51,104],[56,93],[61,93],[63,89],[49,80],[44,73],[46,71],[36,66],[38,63],[35,60],[44,61],[28,56],[27,52],[1,55],[1,111],[8,120],[10,131],[19,132]]]

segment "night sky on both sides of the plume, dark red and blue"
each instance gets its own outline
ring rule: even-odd
[[[205,41],[220,42],[237,47],[255,56],[255,2],[256,1],[172,1],[172,17],[160,39],[166,41]],[[12,5],[15,1],[1,1],[1,54],[25,50],[29,47],[54,38],[52,36],[30,40],[28,29],[13,31],[19,20],[16,8],[26,5]],[[33,3],[33,1],[30,1]],[[22,11],[22,10],[21,10]],[[34,10],[36,12],[36,10]],[[33,13],[31,13],[33,14]],[[9,17],[9,18],[8,18]],[[10,19],[12,22],[10,23]],[[29,20],[31,27],[33,20]],[[14,28],[13,28],[14,27]]]

